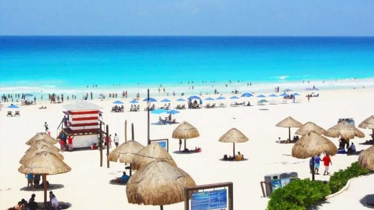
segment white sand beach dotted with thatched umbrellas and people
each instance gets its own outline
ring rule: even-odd
[[[281,137],[282,140],[288,138],[288,129],[276,127],[276,123],[287,116],[292,116],[301,123],[311,121],[328,129],[337,123],[338,118],[354,118],[357,126],[374,114],[374,88],[321,90],[318,92],[319,97],[311,98],[309,103],[307,98],[304,97],[307,92],[299,93],[302,94],[302,96],[299,96],[301,103],[295,104],[288,100],[287,104],[257,105],[257,101],[261,99],[250,97],[240,98],[237,101],[250,101],[253,106],[230,107],[230,103],[234,100],[228,99],[232,96],[231,94],[226,94],[223,95],[227,98],[223,100],[223,103],[227,104],[227,107],[180,110],[180,113],[172,117],[177,122],[187,121],[195,126],[200,133],[200,137],[187,140],[187,148],[201,147],[203,150],[201,153],[174,153],[179,146],[178,140],[172,139],[171,134],[178,124],[153,124],[157,123],[159,116],[164,116],[163,114],[150,115],[150,139],[168,138],[170,155],[178,167],[186,171],[197,185],[233,182],[235,210],[248,210],[249,207],[254,210],[264,210],[269,200],[268,198],[262,198],[260,181],[263,181],[264,175],[297,172],[299,178],[311,177],[308,159],[297,159],[291,156],[291,149],[294,144],[276,142],[278,137]],[[218,96],[212,95],[213,98]],[[203,99],[206,97],[208,96],[203,96]],[[157,97],[158,100],[163,98]],[[177,103],[175,101],[179,97],[168,98],[172,100],[172,107],[177,104],[187,106],[187,102]],[[122,99],[117,98],[117,100]],[[118,134],[120,143],[125,141],[124,122],[127,120],[128,140],[131,139],[131,123],[134,123],[134,139],[146,145],[147,112],[143,111],[146,103],[140,103],[140,112],[129,112],[131,104],[128,102],[130,100],[130,98],[122,100],[125,102],[126,110],[123,113],[111,112],[113,99],[106,99],[105,101],[96,99],[90,102],[103,107],[103,121],[109,124],[109,131],[112,136],[114,136],[114,133]],[[281,100],[280,97],[277,100]],[[16,205],[21,198],[28,200],[32,193],[36,193],[37,202],[42,202],[42,191],[34,192],[22,189],[26,186],[27,179],[18,172],[19,159],[29,148],[25,142],[37,132],[44,131],[44,122],[49,124],[51,135],[56,137],[57,125],[64,115],[62,106],[68,103],[71,102],[64,104],[48,104],[45,102],[43,105],[46,105],[47,109],[38,109],[41,104],[21,106],[19,108],[20,117],[6,117],[8,109],[2,108],[0,112],[0,210]],[[222,102],[204,101],[204,104],[206,103],[219,104]],[[164,103],[155,104],[161,106]],[[236,151],[240,151],[248,160],[237,162],[220,160],[224,154],[232,155],[232,144],[218,141],[232,127],[242,131],[249,139],[247,142],[236,144]],[[297,128],[291,128],[291,137],[296,130]],[[351,142],[355,142],[357,151],[368,148],[369,145],[360,143],[371,139],[368,135],[372,132],[371,130],[360,130],[365,133],[366,137],[351,140]],[[337,139],[329,139],[338,145]],[[59,145],[56,144],[56,146]],[[47,180],[51,184],[63,185],[62,188],[53,190],[53,192],[58,200],[71,203],[71,210],[159,209],[158,206],[129,204],[126,197],[126,186],[109,183],[114,177],[122,175],[124,164],[110,162],[110,168],[107,168],[106,157],[104,156],[103,167],[100,167],[98,150],[63,152],[62,155],[65,158],[65,163],[72,168],[72,171],[47,176]],[[333,165],[330,167],[330,171],[333,173],[339,169],[345,169],[357,158],[356,155],[338,154],[333,156]],[[323,169],[323,166],[321,167]],[[316,179],[328,180],[329,176],[316,175]],[[350,194],[359,191],[368,194],[373,193],[371,185],[365,185],[365,183],[373,180],[373,175],[369,175],[366,179],[367,181],[353,181],[349,188]],[[343,192],[329,199],[328,203],[324,204],[321,209],[345,209],[347,205],[356,210],[366,209],[357,200],[363,196],[365,195],[349,196],[346,192]],[[184,204],[164,206],[164,209],[183,210]]]

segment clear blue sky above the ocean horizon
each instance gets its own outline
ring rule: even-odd
[[[374,35],[374,0],[0,0],[0,35]]]

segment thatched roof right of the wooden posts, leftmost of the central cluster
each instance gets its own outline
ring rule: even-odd
[[[129,140],[112,150],[112,152],[109,153],[108,158],[109,161],[113,162],[117,162],[117,160],[119,159],[119,162],[121,163],[131,163],[132,158],[134,158],[134,156],[143,148],[144,146],[139,142]]]

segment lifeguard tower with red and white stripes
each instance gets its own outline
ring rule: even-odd
[[[100,124],[102,129],[105,128],[105,123],[99,119],[102,107],[86,101],[77,101],[63,107],[66,109],[63,113],[68,122],[65,125],[61,121],[57,127],[57,139],[61,139],[65,131],[68,135],[74,136],[73,148],[88,148],[94,143],[98,144]]]

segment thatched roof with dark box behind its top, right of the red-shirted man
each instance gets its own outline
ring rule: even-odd
[[[345,138],[345,139],[353,139],[356,137],[359,138],[364,138],[365,134],[362,133],[360,130],[355,128],[355,126],[346,123],[346,122],[341,122],[337,123],[333,127],[329,128],[325,134],[325,136],[328,137],[334,137],[334,138]]]

